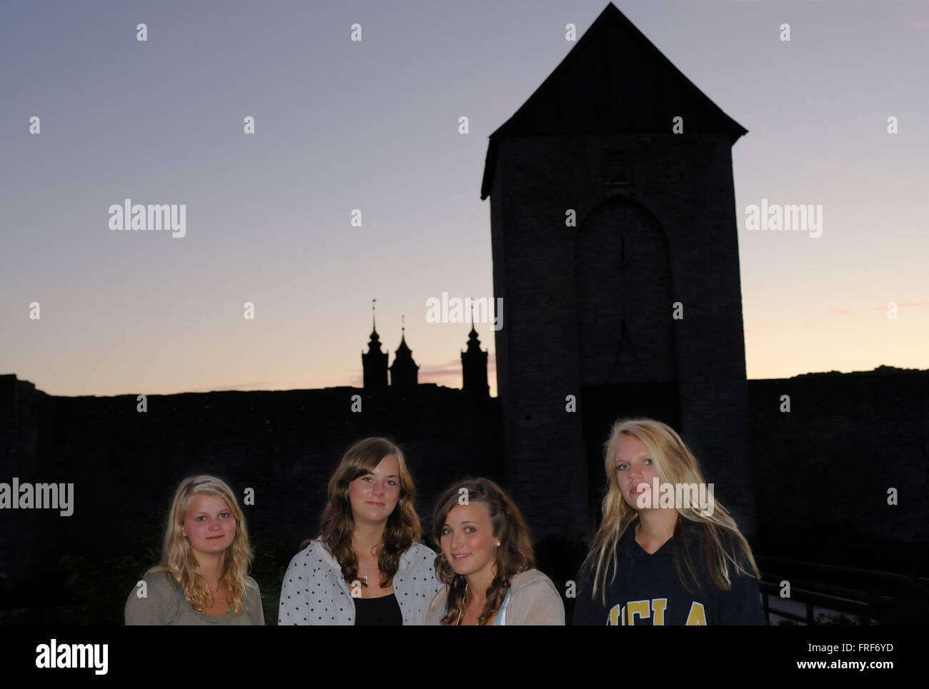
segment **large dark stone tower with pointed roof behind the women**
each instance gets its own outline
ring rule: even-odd
[[[611,422],[674,426],[749,535],[729,118],[610,4],[491,135],[506,482],[536,536],[590,533]]]

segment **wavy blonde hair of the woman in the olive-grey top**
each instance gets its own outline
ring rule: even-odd
[[[168,515],[168,525],[164,532],[162,562],[152,567],[150,572],[166,572],[180,584],[184,598],[195,610],[203,612],[210,605],[210,587],[206,580],[197,573],[197,560],[190,551],[190,541],[181,529],[190,509],[190,503],[197,495],[212,495],[229,504],[229,512],[235,518],[235,537],[226,549],[223,558],[223,571],[219,581],[229,591],[229,603],[232,611],[240,615],[248,597],[246,586],[249,565],[252,564],[252,548],[248,543],[248,530],[245,528],[245,515],[235,499],[235,494],[225,481],[216,476],[188,476],[175,491]]]

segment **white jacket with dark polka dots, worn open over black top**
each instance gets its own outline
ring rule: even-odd
[[[413,543],[400,555],[393,586],[405,625],[425,625],[429,604],[444,587],[436,578],[435,562],[436,553],[422,543]],[[342,576],[342,567],[321,540],[310,541],[287,567],[278,624],[355,624],[351,589]]]

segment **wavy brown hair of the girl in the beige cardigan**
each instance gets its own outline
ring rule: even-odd
[[[535,555],[532,552],[532,540],[529,536],[529,527],[526,519],[519,512],[516,502],[508,496],[504,489],[497,486],[487,478],[465,478],[446,490],[436,503],[436,512],[432,522],[432,536],[436,540],[436,573],[438,578],[448,584],[448,606],[441,624],[455,624],[464,613],[464,608],[472,600],[471,591],[467,591],[467,580],[455,574],[445,552],[441,548],[442,529],[449,513],[459,504],[462,488],[467,490],[467,501],[483,502],[491,513],[491,526],[493,537],[500,541],[497,548],[497,560],[493,565],[493,581],[487,589],[487,603],[478,617],[478,625],[487,623],[494,613],[504,603],[506,591],[510,588],[513,578],[520,572],[525,572],[535,566]]]

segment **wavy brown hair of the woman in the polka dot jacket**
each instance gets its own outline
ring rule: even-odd
[[[351,547],[352,536],[355,533],[355,515],[351,510],[351,500],[348,499],[348,484],[360,476],[371,474],[381,460],[389,456],[397,458],[400,486],[397,506],[387,517],[384,526],[384,547],[377,556],[377,566],[381,570],[381,588],[386,587],[397,574],[400,556],[407,552],[422,534],[419,517],[413,508],[416,488],[413,487],[412,477],[400,448],[383,437],[368,437],[348,448],[329,479],[329,502],[323,509],[320,520],[320,539],[342,567],[342,576],[346,581],[360,581],[361,586],[368,584],[358,576],[358,558]]]

